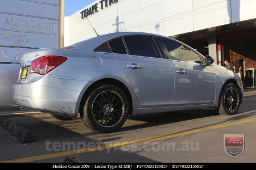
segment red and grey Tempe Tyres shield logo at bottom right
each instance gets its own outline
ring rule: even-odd
[[[233,158],[240,156],[245,148],[245,135],[224,134],[224,147],[229,156]]]

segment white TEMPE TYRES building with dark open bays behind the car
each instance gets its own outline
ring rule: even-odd
[[[65,18],[65,46],[110,32],[150,32],[183,41],[245,76],[256,68],[255,0],[98,0]],[[92,25],[91,25],[92,24]],[[240,69],[242,66],[242,69]]]

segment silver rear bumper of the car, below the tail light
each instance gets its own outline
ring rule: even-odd
[[[15,83],[13,99],[17,105],[24,108],[76,117],[77,101],[86,83],[88,82],[47,75],[34,83]]]

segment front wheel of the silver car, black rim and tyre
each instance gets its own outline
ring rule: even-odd
[[[236,114],[240,106],[241,96],[236,85],[229,83],[224,87],[220,104],[217,108],[218,113],[222,115]]]

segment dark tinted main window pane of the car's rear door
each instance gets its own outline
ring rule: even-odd
[[[125,39],[129,53],[134,56],[161,58],[158,46],[151,36],[127,36]]]

